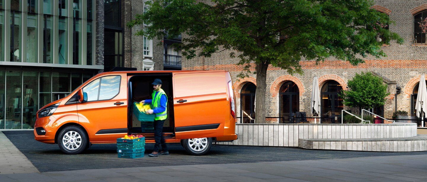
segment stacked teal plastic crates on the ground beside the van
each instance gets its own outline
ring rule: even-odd
[[[135,139],[117,139],[117,156],[119,158],[139,158],[145,152],[145,137]]]

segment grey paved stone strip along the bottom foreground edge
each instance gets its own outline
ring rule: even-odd
[[[427,181],[427,155],[175,165],[0,175],[1,182],[406,182]]]

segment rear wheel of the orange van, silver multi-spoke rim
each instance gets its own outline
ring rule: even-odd
[[[183,139],[181,141],[188,154],[194,156],[205,155],[209,150],[211,150],[212,146],[212,138],[193,138]]]

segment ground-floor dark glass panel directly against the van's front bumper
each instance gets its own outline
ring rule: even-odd
[[[33,129],[38,110],[38,72],[23,71],[23,129]]]

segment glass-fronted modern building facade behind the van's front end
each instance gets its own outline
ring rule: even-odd
[[[32,129],[35,113],[100,68],[94,0],[0,0],[0,129]]]

